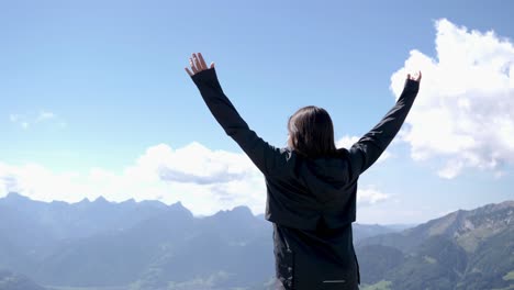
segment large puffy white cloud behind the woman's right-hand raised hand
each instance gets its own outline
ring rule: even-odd
[[[400,136],[414,160],[444,160],[437,174],[455,178],[466,168],[495,171],[514,164],[514,46],[436,21],[437,59],[413,49],[391,76],[401,93],[407,72],[422,70],[420,93]]]

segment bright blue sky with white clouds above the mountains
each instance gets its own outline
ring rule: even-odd
[[[191,53],[201,52],[208,64],[215,62],[225,93],[269,143],[283,146],[289,115],[308,104],[325,108],[336,138],[350,140],[394,104],[403,68],[447,72],[449,82],[439,81],[442,74],[424,74],[425,100],[440,103],[447,99],[437,96],[447,93],[466,103],[466,93],[448,92],[450,79],[463,77],[456,75],[459,64],[433,68],[426,60],[437,63],[440,56],[436,23],[455,25],[440,25],[440,31],[466,26],[469,35],[471,30],[494,31],[496,38],[512,44],[511,11],[514,4],[507,1],[487,7],[479,1],[0,1],[0,196],[16,190],[34,199],[76,201],[102,194],[116,201],[181,201],[197,214],[237,204],[260,213],[265,188],[253,185],[262,179],[241,158],[242,150],[209,113],[185,71]],[[437,22],[442,19],[447,22]],[[445,34],[445,43],[462,40],[454,34]],[[454,46],[445,47],[448,52]],[[513,83],[509,47],[473,47],[469,55],[498,54]],[[412,55],[413,49],[423,57]],[[495,58],[481,59],[473,64]],[[503,109],[480,112],[485,118],[512,116],[514,86],[502,83],[491,86],[503,94],[484,92],[470,99],[470,108],[482,108],[480,100],[501,100]],[[462,86],[469,89],[465,92],[481,89]],[[458,109],[465,107],[455,108],[444,110],[450,123],[465,113]],[[427,130],[422,124],[429,115],[423,112],[413,112],[418,118],[405,124],[412,134],[399,137],[387,158],[361,176],[365,198],[358,222],[424,222],[448,211],[514,199],[509,120],[490,129],[504,146],[484,145],[481,141],[489,135],[463,129],[446,135],[432,132],[431,140],[463,132],[462,142],[472,143],[445,150],[451,142],[425,146],[416,135]],[[491,164],[485,152],[494,148],[500,149]],[[188,164],[188,154],[199,150],[205,157],[199,163],[211,160],[210,168]],[[219,153],[233,154],[232,161],[226,164]],[[201,187],[149,174],[163,166],[203,177],[232,168],[249,178]],[[148,176],[137,182],[133,175]],[[245,196],[245,189],[255,192]]]

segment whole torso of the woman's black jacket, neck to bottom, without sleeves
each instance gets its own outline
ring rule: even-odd
[[[354,252],[357,178],[348,153],[289,160],[266,176],[266,219],[273,222],[276,272],[284,289],[358,289]],[[342,288],[344,287],[344,288]]]

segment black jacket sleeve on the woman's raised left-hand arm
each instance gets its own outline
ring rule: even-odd
[[[265,142],[241,118],[235,107],[223,92],[214,68],[201,70],[191,78],[217,123],[264,175],[268,175],[286,161],[286,152]]]

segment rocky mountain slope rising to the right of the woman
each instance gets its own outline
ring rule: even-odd
[[[514,201],[356,244],[370,289],[514,289]]]

